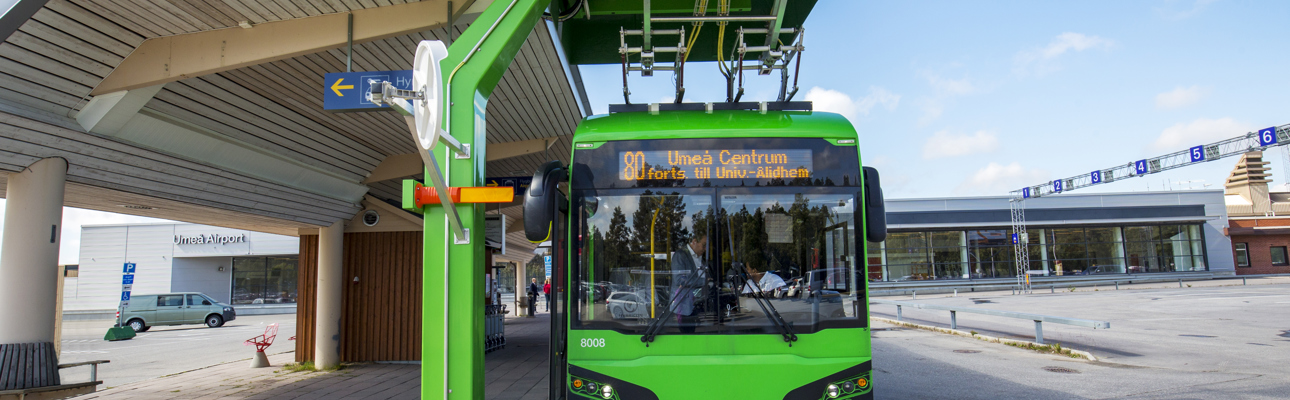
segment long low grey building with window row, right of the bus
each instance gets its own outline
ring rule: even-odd
[[[1009,197],[889,200],[888,239],[869,243],[882,283],[1017,276]],[[1026,200],[1032,275],[1233,275],[1223,191],[1058,195]]]

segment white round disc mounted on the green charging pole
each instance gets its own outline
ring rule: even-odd
[[[439,143],[439,133],[444,112],[444,76],[439,62],[448,58],[448,48],[439,40],[422,40],[417,45],[417,55],[412,61],[412,89],[426,93],[424,101],[414,101],[417,139],[422,150],[433,150]]]

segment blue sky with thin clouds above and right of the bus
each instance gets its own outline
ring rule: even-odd
[[[1286,1],[840,1],[806,19],[796,99],[845,115],[889,199],[1001,196],[1290,123]],[[686,101],[722,101],[690,63]],[[622,103],[620,67],[583,66],[592,108]],[[778,74],[746,75],[773,101]],[[632,75],[633,102],[672,97]],[[1265,156],[1273,185],[1282,150]],[[1078,192],[1219,190],[1236,157]],[[1207,186],[1206,186],[1207,185]]]

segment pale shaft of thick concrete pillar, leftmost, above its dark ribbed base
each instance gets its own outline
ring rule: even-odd
[[[67,160],[9,174],[0,244],[0,343],[54,342]]]

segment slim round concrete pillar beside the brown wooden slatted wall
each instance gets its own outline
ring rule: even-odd
[[[313,366],[319,369],[341,364],[341,290],[344,288],[342,246],[344,221],[319,230],[319,298],[313,319]]]

